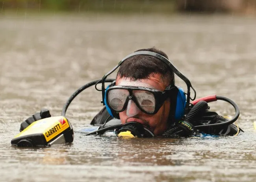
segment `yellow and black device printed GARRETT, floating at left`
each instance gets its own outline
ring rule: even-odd
[[[71,143],[74,139],[73,128],[64,116],[55,116],[37,120],[16,135],[12,145],[32,147],[51,146]]]

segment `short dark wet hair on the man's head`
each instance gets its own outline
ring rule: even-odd
[[[139,49],[137,51],[151,51],[168,59],[168,56],[163,51],[160,51],[155,47],[149,49]],[[121,64],[117,76],[138,80],[147,79],[156,73],[160,73],[162,75],[161,79],[166,86],[174,84],[173,70],[171,70],[170,67],[163,63],[160,59],[148,55],[136,55],[125,60]]]

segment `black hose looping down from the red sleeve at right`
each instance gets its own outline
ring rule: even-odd
[[[226,98],[224,96],[216,96],[216,98],[217,98],[217,100],[224,100],[224,101],[230,103],[236,110],[235,116],[233,118],[231,118],[230,120],[226,121],[226,122],[195,126],[195,129],[203,128],[203,127],[230,125],[230,124],[234,123],[237,120],[237,118],[240,115],[240,109],[239,109],[238,105],[236,104],[236,102],[234,102],[233,100],[231,100],[229,98]]]

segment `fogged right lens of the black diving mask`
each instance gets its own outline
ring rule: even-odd
[[[152,93],[144,90],[134,90],[133,95],[137,99],[139,106],[146,112],[153,113],[156,106],[156,100]]]

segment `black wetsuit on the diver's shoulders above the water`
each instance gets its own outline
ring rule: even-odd
[[[92,125],[100,126],[104,124],[105,122],[109,122],[112,120],[113,117],[111,117],[106,109],[106,107],[103,107],[103,109],[93,118],[91,121]],[[215,124],[215,123],[221,123],[227,121],[226,118],[223,116],[218,115],[217,113],[209,110],[205,110],[204,112],[200,113],[199,116],[195,117],[191,122],[194,126],[199,125],[208,125],[208,124]],[[175,125],[175,122],[173,122],[172,125]],[[171,127],[170,126],[170,127]],[[238,131],[242,131],[240,128],[234,124],[230,124],[228,126],[215,126],[215,127],[204,127],[202,129],[199,129],[200,133],[206,133],[211,135],[220,135],[220,136],[232,136],[236,135]]]

